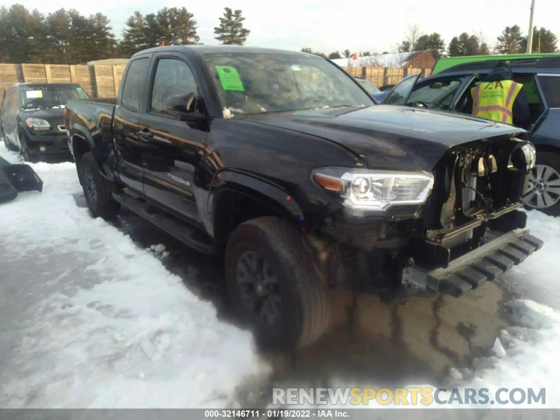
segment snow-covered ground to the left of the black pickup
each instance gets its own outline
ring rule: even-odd
[[[3,145],[0,155],[19,159]],[[0,309],[15,346],[0,407],[229,407],[238,386],[269,373],[250,333],[77,206],[74,165],[31,166],[43,192],[0,206],[2,283],[17,296],[8,316]]]

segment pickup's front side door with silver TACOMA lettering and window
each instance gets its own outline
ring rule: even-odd
[[[198,96],[195,72],[180,55],[156,55],[150,91],[140,116],[139,141],[144,193],[189,222],[202,225],[197,197],[197,169],[206,151],[206,131],[168,112],[174,95]]]

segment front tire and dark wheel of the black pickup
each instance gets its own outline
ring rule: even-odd
[[[286,220],[259,217],[237,226],[227,242],[225,270],[232,303],[260,348],[302,348],[328,327],[328,288]]]

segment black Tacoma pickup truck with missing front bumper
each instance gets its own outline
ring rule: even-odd
[[[71,100],[69,148],[94,217],[121,205],[225,259],[265,347],[310,344],[329,290],[459,297],[538,250],[522,129],[378,105],[313,54],[165,46],[116,100]]]

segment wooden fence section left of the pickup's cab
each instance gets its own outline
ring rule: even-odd
[[[64,64],[0,64],[0,99],[12,83],[79,83],[93,97],[115,97],[124,64],[66,66]]]

